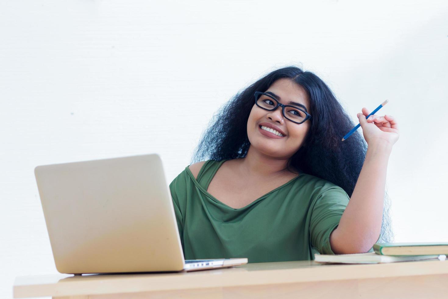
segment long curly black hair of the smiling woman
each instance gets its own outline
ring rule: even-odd
[[[360,130],[341,141],[355,126],[351,117],[327,84],[314,73],[304,72],[296,66],[270,72],[224,104],[202,132],[191,163],[244,158],[250,146],[247,120],[254,106],[254,93],[267,91],[280,78],[289,78],[306,90],[310,99],[309,113],[313,116],[309,133],[302,147],[290,158],[288,168],[332,182],[351,197],[366,158],[367,143]],[[378,242],[393,240],[389,211],[390,201],[386,191]]]

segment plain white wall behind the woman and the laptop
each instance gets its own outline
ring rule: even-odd
[[[171,182],[220,105],[289,64],[354,120],[389,100],[395,241],[447,242],[448,2],[360,2],[1,1],[0,297],[57,273],[35,166],[157,152]]]

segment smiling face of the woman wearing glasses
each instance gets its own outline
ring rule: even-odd
[[[305,89],[288,78],[281,78],[275,81],[265,93],[272,92],[281,104],[293,105],[289,102],[302,104],[307,113],[310,113],[310,101]],[[271,94],[272,95],[272,94]],[[285,113],[287,113],[285,111]],[[263,125],[276,126],[284,136],[277,136],[261,129]],[[262,109],[254,104],[247,120],[247,135],[252,147],[267,156],[280,159],[289,159],[302,146],[308,131],[310,121],[302,122],[300,125],[284,118],[281,107],[274,111]]]

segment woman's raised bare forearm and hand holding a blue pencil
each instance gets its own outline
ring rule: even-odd
[[[381,231],[386,171],[399,132],[393,117],[372,115],[366,120],[368,114],[366,108],[358,113],[362,133],[368,144],[366,159],[349,204],[338,227],[330,235],[330,245],[336,254],[369,251]]]

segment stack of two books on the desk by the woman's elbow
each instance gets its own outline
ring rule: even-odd
[[[315,254],[314,261],[325,264],[379,264],[413,260],[445,260],[448,243],[375,243],[375,252],[355,254]]]

